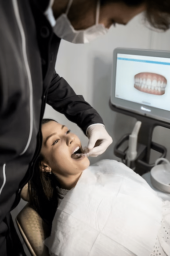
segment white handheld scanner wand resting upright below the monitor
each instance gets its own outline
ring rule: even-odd
[[[137,121],[132,133],[129,136],[129,146],[127,150],[127,166],[130,167],[131,161],[137,156],[137,137],[141,128],[141,121]]]

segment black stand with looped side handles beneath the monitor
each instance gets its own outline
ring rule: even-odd
[[[151,149],[155,150],[162,155],[160,157],[166,157],[166,148],[163,145],[159,145],[156,142],[152,141],[152,133],[156,126],[163,126],[170,129],[170,123],[153,119],[151,117],[140,115],[122,108],[117,108],[112,105],[111,101],[109,101],[109,106],[113,111],[118,113],[129,115],[141,121],[141,128],[138,133],[137,139],[137,156],[130,163],[130,167],[134,169],[134,171],[140,175],[150,171],[152,167],[155,166],[155,163],[149,163]],[[125,141],[128,141],[130,134],[125,134],[115,145],[114,154],[115,156],[121,158],[124,162],[126,162],[127,152],[120,150],[119,148]]]

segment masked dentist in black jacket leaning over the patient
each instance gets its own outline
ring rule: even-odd
[[[45,104],[87,134],[90,156],[112,143],[98,112],[54,70],[61,38],[90,42],[113,23],[126,25],[145,10],[145,2],[157,2],[155,9],[163,5],[158,0],[0,1],[0,256],[25,255],[10,211],[33,175]]]

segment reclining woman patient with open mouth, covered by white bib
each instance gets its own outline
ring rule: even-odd
[[[43,219],[54,218],[44,241],[51,256],[170,256],[169,201],[123,163],[89,167],[66,126],[44,119],[42,135],[29,196]]]

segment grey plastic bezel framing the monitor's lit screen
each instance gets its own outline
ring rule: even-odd
[[[137,113],[139,115],[144,115],[152,119],[161,120],[170,123],[170,111],[146,106],[144,104],[135,103],[128,100],[123,100],[115,97],[116,89],[116,64],[117,64],[117,54],[130,54],[130,55],[141,55],[141,56],[153,56],[153,57],[163,57],[170,59],[170,52],[168,51],[155,51],[147,49],[133,49],[133,48],[116,48],[113,51],[113,62],[112,62],[112,79],[111,79],[111,104],[116,108],[122,108],[124,110]],[[151,110],[141,110],[141,107]]]

